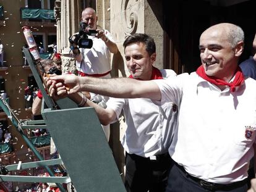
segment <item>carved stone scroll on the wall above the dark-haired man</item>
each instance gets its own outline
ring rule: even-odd
[[[138,25],[138,15],[134,9],[133,5],[136,1],[122,0],[122,14],[121,22],[122,27],[124,28],[124,33],[130,35],[136,32]]]

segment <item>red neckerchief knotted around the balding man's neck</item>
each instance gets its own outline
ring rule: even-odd
[[[208,76],[207,74],[205,74],[205,69],[203,69],[203,65],[198,67],[197,75],[202,77],[204,80],[213,83],[214,85],[228,85],[230,87],[231,92],[236,91],[236,86],[240,86],[242,85],[242,83],[244,83],[244,75],[242,74],[242,70],[240,67],[237,67],[234,81],[232,81],[231,83],[228,83],[216,77]]]

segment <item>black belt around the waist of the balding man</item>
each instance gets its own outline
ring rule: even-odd
[[[234,182],[234,183],[229,183],[229,184],[219,184],[219,183],[211,183],[211,182],[207,182],[205,180],[202,180],[200,178],[194,177],[192,175],[190,175],[189,173],[186,172],[186,170],[184,169],[184,167],[182,167],[181,165],[177,164],[175,162],[175,165],[182,170],[182,172],[185,173],[186,177],[191,178],[192,180],[194,180],[194,182],[197,182],[200,186],[202,186],[202,188],[204,188],[205,190],[210,190],[210,191],[218,191],[218,190],[234,190],[236,188],[239,188],[245,184],[247,184],[247,179],[242,180],[240,182]]]

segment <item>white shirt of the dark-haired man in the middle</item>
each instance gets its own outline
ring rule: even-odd
[[[176,76],[173,70],[160,71],[163,78]],[[172,102],[157,106],[150,99],[110,98],[107,106],[116,112],[116,120],[124,110],[127,130],[122,146],[129,154],[150,157],[168,152],[177,123],[177,107]]]

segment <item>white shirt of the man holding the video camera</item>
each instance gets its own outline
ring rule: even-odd
[[[113,38],[108,30],[105,30],[106,37],[113,41]],[[88,36],[92,39],[93,46],[91,49],[80,48],[83,54],[83,61],[76,62],[77,70],[87,74],[103,74],[111,70],[110,66],[110,52],[106,43],[101,38],[95,36]]]

